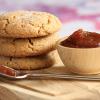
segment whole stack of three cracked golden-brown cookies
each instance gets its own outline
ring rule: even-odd
[[[0,65],[15,69],[39,69],[54,64],[60,29],[49,13],[15,11],[0,15]]]

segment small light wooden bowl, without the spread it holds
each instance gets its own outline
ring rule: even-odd
[[[100,73],[100,47],[71,48],[61,45],[63,38],[57,42],[57,51],[68,70],[77,74]]]

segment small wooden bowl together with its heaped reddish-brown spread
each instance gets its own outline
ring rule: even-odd
[[[100,73],[100,34],[79,29],[57,42],[59,56],[72,73]]]

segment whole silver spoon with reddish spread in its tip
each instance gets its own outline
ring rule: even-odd
[[[100,76],[97,75],[77,75],[77,74],[59,74],[59,73],[22,73],[7,66],[0,66],[0,76],[8,79],[66,79],[66,80],[86,80],[100,81]]]

